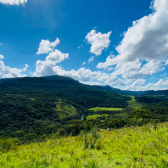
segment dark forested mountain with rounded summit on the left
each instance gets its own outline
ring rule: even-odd
[[[128,105],[129,97],[62,76],[0,80],[0,136],[26,133],[80,119],[92,107]]]

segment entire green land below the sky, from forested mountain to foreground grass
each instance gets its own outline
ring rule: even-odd
[[[0,167],[166,167],[167,91],[153,93],[0,80]]]

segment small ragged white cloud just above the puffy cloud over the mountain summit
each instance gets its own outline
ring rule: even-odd
[[[41,43],[38,48],[37,54],[47,54],[54,51],[54,48],[60,43],[60,40],[57,38],[54,42],[49,40],[41,40]]]

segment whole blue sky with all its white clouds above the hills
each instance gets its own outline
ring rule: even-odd
[[[0,0],[0,78],[168,89],[168,0]]]

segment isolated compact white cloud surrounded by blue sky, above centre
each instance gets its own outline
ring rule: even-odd
[[[102,34],[101,32],[96,32],[96,30],[92,30],[89,32],[85,39],[91,44],[90,52],[95,55],[101,55],[102,51],[110,45],[110,35],[111,31],[107,34]]]

